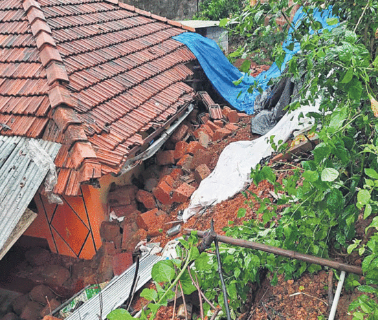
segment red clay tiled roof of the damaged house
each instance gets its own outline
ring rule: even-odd
[[[118,173],[193,98],[185,29],[118,0],[1,1],[0,134],[63,144],[58,194]]]

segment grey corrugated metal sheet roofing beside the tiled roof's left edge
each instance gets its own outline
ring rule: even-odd
[[[48,167],[38,167],[27,155],[31,138],[0,136],[0,253],[12,234],[38,187],[47,175]],[[38,140],[52,160],[60,149],[55,142]],[[1,259],[0,255],[0,259]]]

